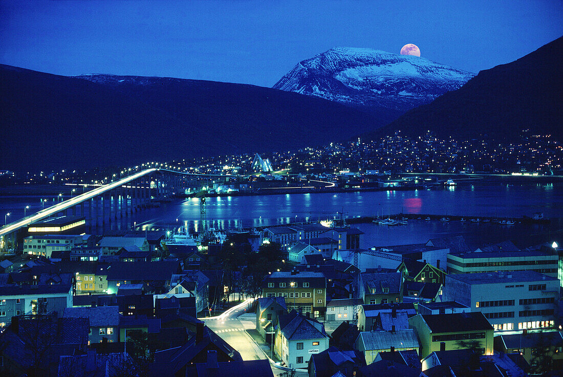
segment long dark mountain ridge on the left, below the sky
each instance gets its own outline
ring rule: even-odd
[[[91,168],[285,150],[382,125],[320,98],[173,78],[63,77],[0,65],[0,169]]]

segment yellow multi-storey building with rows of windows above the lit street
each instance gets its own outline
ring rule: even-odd
[[[289,311],[324,316],[327,278],[322,272],[276,271],[262,282],[262,297],[283,297]]]

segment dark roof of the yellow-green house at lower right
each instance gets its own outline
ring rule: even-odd
[[[432,333],[493,330],[481,312],[420,315]]]

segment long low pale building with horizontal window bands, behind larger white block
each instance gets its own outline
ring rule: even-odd
[[[487,248],[484,248],[488,250]],[[495,250],[448,254],[449,273],[495,273],[535,271],[557,277],[558,255],[555,249]],[[479,249],[478,249],[479,250]]]

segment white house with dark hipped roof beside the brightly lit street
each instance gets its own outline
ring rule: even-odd
[[[296,311],[279,316],[275,324],[274,352],[290,368],[305,368],[311,354],[328,348],[324,325]]]

